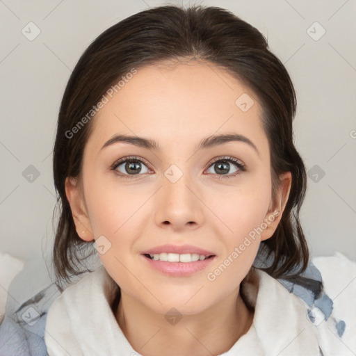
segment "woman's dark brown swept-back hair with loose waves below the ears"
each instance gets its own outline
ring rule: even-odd
[[[54,184],[60,210],[53,259],[56,282],[88,271],[82,262],[94,253],[92,242],[81,240],[65,195],[66,177],[81,177],[83,150],[92,120],[79,133],[66,133],[87,115],[102,95],[133,68],[163,60],[196,59],[227,70],[257,95],[263,108],[263,126],[270,145],[272,197],[279,175],[291,172],[289,200],[272,237],[262,241],[273,264],[264,268],[280,277],[299,266],[307,268],[309,250],[300,226],[299,211],[305,197],[305,165],[293,144],[292,122],[296,94],[288,72],[268,49],[253,26],[218,7],[159,6],[149,8],[111,26],[83,52],[65,88],[54,145]],[[262,268],[261,268],[262,269]]]

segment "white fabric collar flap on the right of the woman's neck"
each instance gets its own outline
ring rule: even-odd
[[[266,355],[319,356],[318,337],[307,319],[307,307],[268,273],[257,269],[253,274],[243,281],[241,296],[248,296],[254,304],[254,343],[259,343]],[[248,337],[249,332],[245,341]]]

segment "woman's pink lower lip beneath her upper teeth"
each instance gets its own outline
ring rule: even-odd
[[[186,277],[193,275],[207,268],[209,264],[215,259],[216,256],[210,257],[209,259],[204,259],[202,261],[194,262],[168,262],[168,261],[158,261],[154,259],[149,259],[145,255],[141,255],[149,266],[163,273],[164,275],[169,275],[171,277]]]

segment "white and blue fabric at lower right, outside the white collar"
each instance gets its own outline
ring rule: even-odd
[[[321,355],[355,355],[355,261],[335,252],[330,257],[314,257],[305,272],[310,282],[321,282],[321,290],[313,293],[305,286],[294,286],[292,291],[307,308]]]

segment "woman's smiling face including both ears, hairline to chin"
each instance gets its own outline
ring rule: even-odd
[[[236,105],[241,95],[250,97],[247,106]],[[202,312],[238,293],[259,243],[280,221],[273,212],[289,194],[286,175],[277,202],[271,200],[261,115],[250,89],[195,61],[140,68],[108,97],[92,119],[83,194],[74,179],[66,187],[77,232],[102,245],[102,264],[123,293],[163,314],[172,307]],[[242,139],[198,147],[227,134]],[[154,140],[156,147],[111,140],[117,135]],[[170,247],[156,250],[162,245]],[[175,252],[172,259],[176,252],[179,259],[211,257],[155,261],[147,252],[163,252],[156,253],[162,259],[164,252]]]

